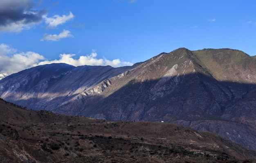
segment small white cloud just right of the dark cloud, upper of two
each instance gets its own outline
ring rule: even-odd
[[[71,20],[72,18],[74,18],[74,15],[72,14],[72,12],[70,12],[69,15],[54,15],[53,17],[47,17],[46,15],[44,15],[43,17],[45,19],[45,23],[49,24],[47,27],[54,28],[60,24],[67,22],[68,20]]]

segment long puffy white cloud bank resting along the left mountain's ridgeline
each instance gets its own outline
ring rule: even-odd
[[[112,61],[104,58],[97,59],[97,53],[95,50],[90,55],[80,56],[79,59],[74,59],[75,54],[60,54],[60,59],[54,61],[42,61],[38,65],[45,65],[50,63],[67,63],[69,65],[80,66],[80,65],[110,65],[112,67],[121,67],[127,65],[133,65],[130,62],[120,61],[120,59],[114,59]]]

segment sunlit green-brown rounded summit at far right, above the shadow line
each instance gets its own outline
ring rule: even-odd
[[[203,49],[193,53],[211,70],[214,78],[220,81],[255,83],[256,59],[233,49]]]

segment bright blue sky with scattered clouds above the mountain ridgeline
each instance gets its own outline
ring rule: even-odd
[[[177,48],[256,55],[255,0],[0,0],[0,74],[119,67]]]

